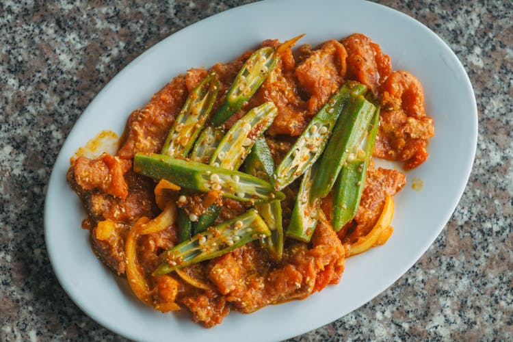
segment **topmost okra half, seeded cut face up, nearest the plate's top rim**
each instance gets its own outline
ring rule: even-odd
[[[226,92],[224,105],[215,113],[213,125],[218,127],[246,103],[262,85],[276,65],[276,51],[263,47],[254,51],[235,77],[233,85]]]

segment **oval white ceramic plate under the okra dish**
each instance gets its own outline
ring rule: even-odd
[[[396,198],[395,231],[382,247],[347,260],[341,282],[306,300],[267,306],[251,315],[232,312],[205,329],[181,313],[162,314],[141,302],[92,253],[79,198],[66,183],[69,157],[101,130],[122,133],[131,111],[172,77],[194,66],[229,61],[267,38],[318,44],[360,32],[391,56],[395,70],[422,82],[436,135],[430,157],[407,172],[422,179]],[[469,178],[477,140],[471,83],[456,55],[425,26],[382,5],[363,1],[267,1],[212,16],[143,53],[94,98],[55,161],[44,211],[47,248],[68,295],[103,326],[135,340],[263,341],[293,337],[350,313],[384,291],[428,249],[453,213]]]

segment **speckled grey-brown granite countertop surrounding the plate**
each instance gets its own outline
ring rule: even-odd
[[[23,2],[23,3],[22,3]],[[0,2],[0,340],[122,340],[60,287],[44,194],[66,135],[105,84],[174,31],[248,1]],[[474,168],[431,248],[358,310],[297,337],[513,339],[513,3],[378,1],[456,52],[479,109]]]

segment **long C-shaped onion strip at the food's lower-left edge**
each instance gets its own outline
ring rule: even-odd
[[[174,302],[155,303],[150,293],[148,281],[144,277],[139,263],[137,263],[137,238],[140,236],[140,231],[144,229],[144,225],[148,224],[148,222],[150,222],[150,220],[144,217],[137,220],[127,234],[127,239],[124,242],[124,256],[127,263],[126,274],[130,288],[144,304],[156,308],[159,311],[167,312],[180,310],[180,306]]]

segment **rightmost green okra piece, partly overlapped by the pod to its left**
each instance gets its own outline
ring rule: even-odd
[[[376,133],[380,124],[380,107],[376,108],[369,130],[364,132],[363,148],[356,146],[345,161],[332,193],[332,226],[340,229],[356,214],[360,205],[367,168],[371,161],[376,142]]]

